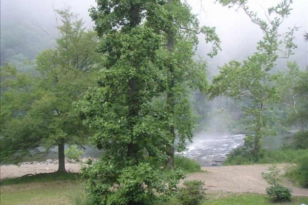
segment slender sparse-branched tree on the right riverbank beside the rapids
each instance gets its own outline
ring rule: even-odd
[[[213,79],[211,97],[224,95],[234,99],[245,100],[247,106],[243,111],[247,116],[246,141],[251,141],[254,159],[258,159],[261,138],[275,134],[269,126],[269,115],[272,103],[278,103],[277,90],[273,86],[273,76],[269,71],[275,66],[278,58],[287,58],[296,48],[293,33],[296,27],[284,34],[278,30],[283,19],[290,15],[292,0],[283,0],[265,13],[266,20],[249,10],[247,1],[220,0],[223,6],[238,6],[260,27],[264,36],[258,42],[257,52],[249,56],[243,63],[232,60],[220,68],[219,75]],[[272,18],[273,16],[273,18]],[[249,144],[249,143],[247,143]]]

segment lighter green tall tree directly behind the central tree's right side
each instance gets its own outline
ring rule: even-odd
[[[150,12],[159,13],[161,21],[147,19],[148,24],[155,30],[161,31],[164,47],[160,49],[163,66],[166,73],[165,99],[171,116],[170,135],[178,145],[168,148],[167,167],[174,167],[175,148],[185,149],[186,140],[191,141],[196,126],[194,114],[190,105],[190,91],[199,89],[206,91],[206,63],[204,60],[196,62],[193,56],[198,46],[198,34],[205,35],[206,43],[212,43],[213,49],[209,56],[213,57],[220,50],[220,39],[215,33],[215,27],[200,27],[196,15],[191,8],[179,0],[168,0],[158,9]]]

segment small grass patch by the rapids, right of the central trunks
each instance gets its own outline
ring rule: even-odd
[[[202,172],[197,161],[183,156],[175,156],[175,168],[181,168],[187,173]]]

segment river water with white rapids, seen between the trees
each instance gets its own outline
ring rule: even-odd
[[[243,134],[196,134],[194,142],[187,145],[187,150],[176,153],[198,161],[202,167],[221,166],[226,154],[244,143],[245,135]],[[263,139],[264,146],[269,149],[279,149],[282,145],[288,144],[288,138],[284,135],[271,136]],[[67,146],[66,146],[67,148]],[[94,147],[85,147],[85,152],[81,157],[101,156],[103,151]],[[24,157],[21,162],[25,161],[45,161],[46,159],[57,159],[57,147],[54,147],[50,153],[45,156]],[[7,162],[1,162],[6,164]]]

